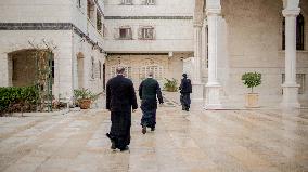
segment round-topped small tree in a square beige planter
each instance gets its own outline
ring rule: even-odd
[[[254,93],[254,88],[261,84],[261,74],[259,72],[245,72],[242,76],[243,83],[249,89],[252,89],[251,93],[245,95],[246,97],[246,107],[259,107],[258,98],[259,94]]]

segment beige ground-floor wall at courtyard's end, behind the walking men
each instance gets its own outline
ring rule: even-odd
[[[177,79],[180,81],[181,75],[183,71],[183,59],[188,58],[192,53],[175,53],[174,56],[169,57],[166,55],[108,55],[106,58],[106,76],[107,79],[113,77],[112,67],[118,66],[128,66],[131,67],[131,79],[134,83],[136,89],[139,87],[142,81],[143,72],[140,70],[142,66],[146,65],[158,65],[163,67],[163,75],[158,79],[161,88],[165,82],[164,78]]]

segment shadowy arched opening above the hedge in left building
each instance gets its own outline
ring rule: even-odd
[[[8,54],[10,85],[27,87],[40,84],[52,88],[54,81],[54,58],[48,50],[25,49]],[[42,81],[43,80],[43,81]],[[38,82],[43,83],[38,83]],[[42,88],[43,89],[43,88]]]

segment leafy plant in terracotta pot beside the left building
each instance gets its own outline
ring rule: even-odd
[[[74,96],[76,100],[76,104],[81,109],[90,108],[91,103],[98,100],[100,94],[101,93],[94,94],[90,90],[85,89],[85,88],[74,90]]]

